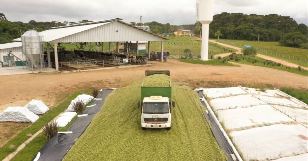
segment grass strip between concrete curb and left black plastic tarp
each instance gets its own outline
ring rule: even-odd
[[[92,102],[93,100],[90,101],[87,105],[90,105]],[[66,131],[75,121],[76,118],[77,116],[75,116],[71,120],[71,122],[69,122],[65,127],[60,127],[59,131]],[[19,151],[18,154],[11,159],[11,161],[31,160],[47,142],[48,140],[46,139],[46,136],[43,133],[39,134],[36,138],[34,138],[31,142],[29,142],[29,144],[27,144],[26,147],[24,147],[21,151]]]

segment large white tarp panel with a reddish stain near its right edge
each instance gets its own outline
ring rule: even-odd
[[[233,131],[230,135],[245,160],[276,158],[308,150],[308,131],[300,124],[256,127]]]

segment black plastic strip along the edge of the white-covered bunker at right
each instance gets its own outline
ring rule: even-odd
[[[202,94],[203,90],[197,91],[197,93],[198,93],[200,98],[204,98],[203,94]],[[207,107],[204,101],[202,101],[201,103],[202,103],[202,105],[205,106],[205,108],[207,110],[209,110],[208,108],[211,108],[211,107]],[[230,154],[234,154],[234,151],[233,151],[232,147],[229,145],[229,143],[228,143],[227,139],[225,138],[224,134],[220,130],[218,124],[214,121],[215,116],[212,116],[210,113],[209,114],[204,113],[204,116],[205,116],[207,122],[209,122],[211,124],[212,133],[213,133],[214,137],[216,138],[219,147],[223,151],[225,151],[225,155],[228,157],[228,161],[233,161]]]

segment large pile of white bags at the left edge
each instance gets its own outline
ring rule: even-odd
[[[35,122],[39,116],[26,107],[8,107],[0,114],[0,121],[5,122]]]

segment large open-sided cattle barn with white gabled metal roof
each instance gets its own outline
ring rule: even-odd
[[[120,42],[148,42],[168,40],[162,36],[153,34],[139,27],[121,21],[122,19],[109,19],[104,21],[75,24],[62,27],[52,27],[49,30],[40,32],[43,35],[43,42],[46,43],[46,59],[49,68],[59,71],[59,68],[89,68],[105,67],[106,65],[120,65],[124,63],[123,59],[128,58],[128,62],[141,63],[146,62],[148,56],[138,57],[137,59],[128,57],[129,51],[120,51]],[[13,41],[21,41],[21,38]],[[102,46],[103,43],[109,43],[109,52],[84,51],[83,46],[87,43],[94,43],[96,46]],[[65,51],[61,48],[63,43],[77,43],[79,50]],[[111,43],[116,44],[116,50],[111,51]],[[51,48],[53,44],[53,48]],[[163,52],[162,43],[162,52]],[[141,45],[142,46],[142,45]],[[144,45],[145,46],[145,43]],[[143,49],[144,48],[144,49]],[[145,50],[145,47],[140,48]],[[142,52],[143,52],[142,51]],[[148,46],[150,51],[150,45]],[[139,50],[136,51],[137,55]],[[74,54],[74,56],[72,56]],[[163,59],[161,59],[163,61]],[[125,61],[126,62],[126,61]]]

